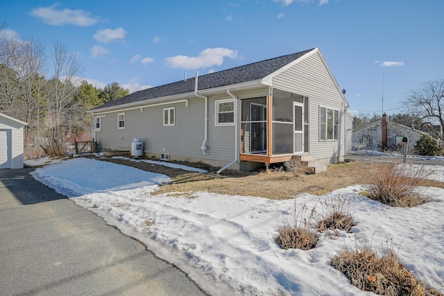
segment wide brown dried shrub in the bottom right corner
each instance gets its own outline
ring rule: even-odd
[[[332,266],[342,272],[353,286],[378,295],[441,295],[436,290],[418,281],[405,268],[393,250],[377,256],[370,247],[362,250],[344,250],[334,256]]]

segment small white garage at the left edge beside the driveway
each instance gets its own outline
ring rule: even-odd
[[[27,124],[0,113],[0,168],[23,168],[23,129]]]

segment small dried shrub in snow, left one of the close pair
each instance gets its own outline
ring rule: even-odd
[[[310,250],[318,244],[318,234],[313,228],[315,210],[308,212],[304,204],[296,209],[296,201],[291,218],[285,216],[278,222],[278,234],[275,241],[282,249]]]

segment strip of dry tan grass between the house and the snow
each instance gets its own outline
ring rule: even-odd
[[[127,166],[134,166],[144,171],[162,173],[171,177],[173,182],[160,186],[153,194],[169,192],[198,192],[206,191],[211,193],[228,195],[248,195],[268,198],[272,200],[282,200],[294,198],[300,193],[311,193],[314,195],[324,195],[336,189],[355,184],[364,184],[368,179],[368,164],[362,162],[345,162],[341,164],[331,164],[327,171],[318,175],[300,175],[293,177],[290,172],[283,171],[282,168],[271,169],[266,172],[239,172],[226,170],[221,175],[215,172],[219,168],[212,168],[204,164],[187,164],[198,168],[205,168],[209,173],[192,173],[182,171],[177,168],[167,166],[157,166],[145,162],[130,162],[127,159],[101,159]],[[390,165],[381,164],[389,167]],[[436,186],[444,188],[444,183],[424,180],[423,186]]]

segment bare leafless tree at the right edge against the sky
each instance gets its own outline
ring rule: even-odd
[[[422,126],[444,140],[444,79],[429,80],[412,90],[403,102],[407,112],[414,114]],[[435,127],[438,127],[438,130]]]

